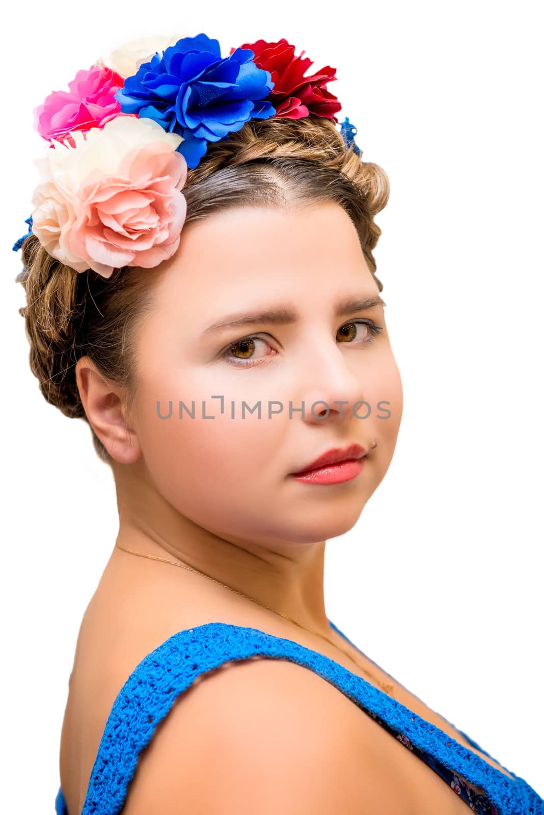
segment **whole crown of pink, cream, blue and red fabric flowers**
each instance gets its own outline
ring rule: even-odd
[[[313,62],[304,53],[295,56],[282,38],[244,43],[223,58],[219,42],[200,33],[128,43],[78,71],[68,92],[54,91],[34,110],[48,149],[34,162],[41,183],[14,251],[33,232],[53,258],[104,278],[170,258],[186,218],[187,168],[208,142],[250,119],[314,114],[338,123],[341,106],[327,90],[336,68],[305,77]],[[356,132],[346,117],[344,144],[359,154]]]

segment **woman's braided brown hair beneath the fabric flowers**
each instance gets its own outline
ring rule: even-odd
[[[331,119],[252,119],[228,139],[208,143],[183,187],[191,221],[237,206],[302,207],[333,201],[354,227],[366,263],[375,276],[372,250],[381,233],[374,216],[387,204],[384,170],[362,161]],[[183,240],[183,233],[182,233]],[[24,240],[21,280],[27,305],[20,308],[30,342],[29,362],[40,390],[65,416],[83,418],[75,376],[77,359],[88,355],[104,377],[134,394],[136,337],[151,306],[153,271],[122,267],[105,280],[80,273],[52,258],[34,235]],[[98,436],[99,457],[111,461]]]

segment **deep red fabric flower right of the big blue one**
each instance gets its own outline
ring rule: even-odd
[[[314,113],[338,123],[335,113],[342,106],[326,87],[327,82],[336,80],[336,68],[327,65],[311,77],[305,77],[305,71],[314,63],[308,57],[302,59],[304,51],[295,56],[295,46],[290,45],[285,37],[278,42],[244,42],[239,47],[250,48],[257,68],[270,72],[274,88],[266,100],[274,106],[276,116],[301,119]],[[234,51],[235,48],[231,48],[230,54]]]

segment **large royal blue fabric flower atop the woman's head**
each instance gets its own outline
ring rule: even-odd
[[[274,82],[253,57],[249,48],[237,48],[222,59],[217,40],[204,33],[183,37],[127,77],[116,100],[121,112],[154,119],[182,136],[178,152],[193,169],[208,142],[227,139],[249,119],[274,116],[275,108],[265,101]]]

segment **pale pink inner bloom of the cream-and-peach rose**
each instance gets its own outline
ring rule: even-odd
[[[70,252],[105,278],[123,266],[151,268],[178,249],[186,218],[187,164],[164,142],[123,157],[116,173],[92,170],[73,196]]]

